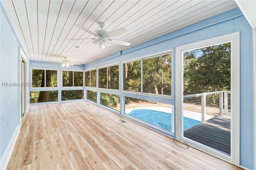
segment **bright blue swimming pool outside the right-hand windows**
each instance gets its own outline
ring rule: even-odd
[[[166,113],[150,109],[134,109],[130,113],[128,113],[128,115],[172,131],[172,113]],[[188,117],[183,117],[183,121],[184,130],[201,123],[201,121],[190,119]]]

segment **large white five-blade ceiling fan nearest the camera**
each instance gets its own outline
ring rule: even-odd
[[[74,26],[94,35],[97,38],[81,38],[81,39],[70,39],[70,40],[78,41],[78,40],[87,40],[87,39],[91,40],[92,39],[92,40],[94,40],[94,41],[92,41],[92,43],[94,45],[98,46],[100,49],[104,49],[104,48],[110,46],[110,43],[116,43],[116,44],[126,45],[126,46],[129,46],[131,44],[126,41],[121,41],[118,39],[111,39],[111,37],[116,37],[118,35],[121,35],[122,33],[126,33],[127,30],[124,28],[118,28],[118,29],[108,32],[108,31],[103,30],[103,28],[105,27],[105,24],[99,23],[99,27],[101,29],[93,32],[85,27],[82,27],[81,25],[74,24]]]

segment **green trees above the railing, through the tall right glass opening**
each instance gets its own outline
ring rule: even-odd
[[[230,43],[184,52],[184,94],[230,91]]]

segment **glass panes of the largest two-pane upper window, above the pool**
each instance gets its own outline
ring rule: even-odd
[[[123,68],[124,90],[172,96],[172,53],[124,63]]]

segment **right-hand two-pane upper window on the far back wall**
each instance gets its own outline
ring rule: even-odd
[[[84,73],[81,71],[62,71],[62,86],[77,87],[83,86]]]

